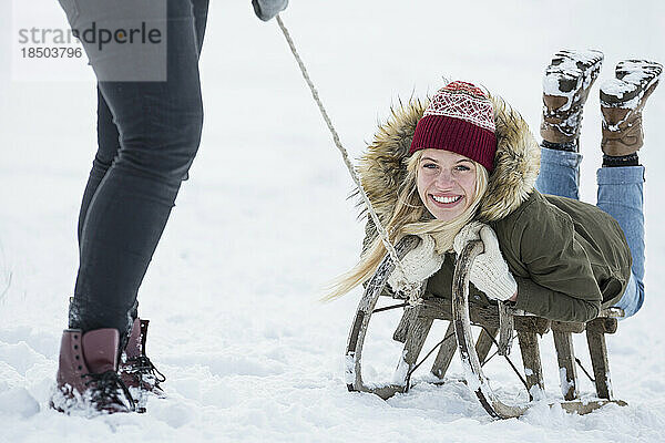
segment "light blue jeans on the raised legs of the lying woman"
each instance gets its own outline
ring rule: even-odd
[[[581,154],[542,147],[535,188],[543,194],[580,199],[581,161]],[[601,167],[596,175],[596,206],[618,222],[633,257],[628,286],[616,303],[631,317],[644,302],[644,166]]]

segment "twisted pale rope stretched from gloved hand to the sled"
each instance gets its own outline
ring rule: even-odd
[[[276,20],[277,20],[277,24],[279,24],[279,29],[282,29],[282,32],[284,33],[284,37],[286,38],[286,41],[288,43],[288,47],[290,48],[291,53],[294,54],[296,61],[298,62],[298,66],[300,68],[303,78],[305,78],[305,82],[307,82],[307,85],[309,86],[309,90],[311,91],[311,96],[314,97],[314,101],[316,102],[316,104],[324,117],[324,121],[326,122],[326,125],[328,125],[328,130],[330,131],[330,134],[332,135],[332,141],[335,142],[335,146],[337,146],[337,148],[341,153],[344,163],[345,163],[347,169],[349,171],[349,174],[351,175],[354,183],[356,183],[356,186],[358,187],[360,197],[362,198],[362,202],[365,202],[365,205],[367,206],[367,210],[368,210],[369,215],[371,216],[371,219],[375,223],[375,226],[377,228],[379,237],[381,238],[381,241],[383,243],[383,246],[386,247],[386,250],[390,255],[390,258],[395,262],[395,266],[397,267],[397,269],[406,278],[405,268],[403,268],[401,261],[399,260],[399,257],[397,256],[397,251],[395,250],[395,247],[390,243],[388,233],[386,231],[386,228],[379,220],[379,216],[377,215],[374,207],[371,206],[371,202],[369,202],[369,197],[367,196],[367,193],[365,192],[365,188],[362,187],[362,184],[360,183],[360,178],[358,177],[356,168],[354,167],[351,161],[349,159],[349,155],[348,155],[347,151],[345,150],[345,147],[341,145],[341,142],[339,141],[339,135],[337,134],[335,126],[332,126],[332,122],[330,121],[330,117],[328,116],[328,113],[326,112],[326,109],[324,107],[324,104],[321,103],[321,100],[319,99],[318,92],[317,92],[316,87],[314,86],[311,79],[309,78],[307,68],[305,68],[305,63],[303,63],[303,59],[300,59],[300,55],[298,54],[298,51],[296,50],[296,45],[294,44],[294,41],[293,41],[288,30],[284,25],[284,22],[282,21],[282,18],[279,16],[276,16]],[[420,285],[417,282],[408,281],[408,280],[402,281],[402,282],[405,284],[403,292],[408,296],[409,302],[411,305],[418,303],[419,302],[419,290],[418,289],[420,288]]]

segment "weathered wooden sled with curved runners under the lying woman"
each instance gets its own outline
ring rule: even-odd
[[[411,250],[419,239],[407,236],[396,246],[400,259]],[[482,253],[481,241],[469,243],[460,259],[456,264],[452,284],[452,305],[443,299],[424,299],[417,306],[407,306],[400,323],[395,331],[393,339],[405,343],[393,383],[374,387],[362,381],[361,359],[365,336],[369,320],[375,313],[377,300],[379,299],[390,272],[395,268],[389,255],[387,255],[374,277],[368,281],[364,297],[351,324],[346,352],[346,383],[349,391],[370,392],[387,400],[396,393],[409,390],[410,374],[417,364],[418,356],[422,350],[428,332],[433,320],[449,320],[444,337],[454,333],[457,342],[443,340],[434,359],[431,373],[443,382],[446,371],[457,349],[460,351],[462,368],[464,369],[464,382],[478,396],[484,410],[495,419],[510,419],[522,415],[531,405],[533,389],[544,390],[542,364],[539,349],[539,334],[542,336],[550,330],[554,334],[554,344],[561,374],[561,389],[563,400],[553,404],[561,405],[567,412],[585,414],[607,403],[626,405],[621,400],[612,399],[612,383],[610,380],[610,367],[607,361],[607,348],[605,334],[614,333],[617,328],[615,317],[618,311],[604,310],[596,319],[587,323],[551,321],[544,318],[516,311],[505,303],[495,307],[473,306],[469,309],[469,269],[478,254]],[[424,287],[421,288],[421,293]],[[379,309],[380,310],[380,309]],[[379,311],[377,310],[377,311]],[[472,342],[471,323],[482,326],[475,344]],[[502,356],[510,352],[512,346],[513,328],[516,331],[522,360],[524,362],[525,382],[529,389],[530,403],[525,405],[510,405],[501,401],[492,391],[484,377],[481,363],[487,359],[492,344],[497,341],[494,337],[500,333],[499,353]],[[573,333],[586,332],[591,362],[595,378],[597,400],[580,400],[577,371],[573,351]]]

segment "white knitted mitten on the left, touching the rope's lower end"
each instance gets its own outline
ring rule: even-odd
[[[429,234],[420,235],[420,243],[411,249],[400,261],[405,272],[396,267],[388,284],[393,291],[398,292],[403,289],[405,284],[421,282],[430,278],[436,271],[441,269],[443,265],[443,256],[437,254],[436,241]]]

